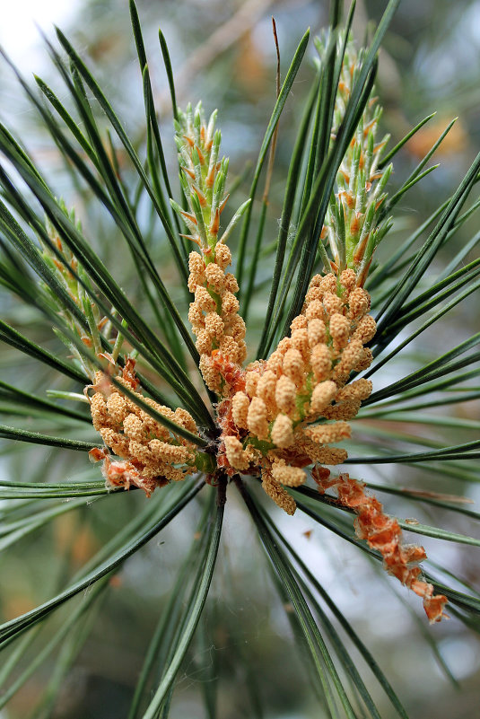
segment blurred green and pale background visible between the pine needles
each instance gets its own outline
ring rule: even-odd
[[[275,45],[270,16],[275,15],[283,65],[287,66],[305,28],[310,25],[315,34],[326,24],[327,4],[308,0],[138,0],[137,6],[144,28],[155,99],[161,109],[163,145],[173,176],[176,156],[169,92],[158,44],[159,26],[169,43],[179,105],[201,99],[206,110],[214,107],[220,110],[223,152],[231,157],[231,182],[236,185],[231,206],[238,206],[249,188],[251,162],[255,162],[266,119],[275,102]],[[370,31],[369,19],[378,19],[384,7],[380,0],[358,4],[354,22],[354,34],[358,39]],[[127,4],[124,0],[81,0],[76,19],[63,30],[74,45],[82,49],[83,59],[94,69],[118,114],[124,118],[129,135],[142,145],[142,83]],[[310,58],[312,55],[310,48]],[[377,88],[385,107],[384,130],[392,134],[392,144],[395,144],[425,115],[434,110],[437,115],[397,156],[396,176],[405,178],[449,120],[458,116],[458,121],[433,158],[433,161],[441,162],[441,169],[416,186],[415,192],[402,203],[401,220],[396,227],[399,238],[423,222],[438,206],[439,197],[448,197],[480,149],[479,55],[480,2],[458,0],[453,4],[449,0],[404,0],[400,4],[380,54]],[[46,54],[42,63],[41,67],[31,69],[50,82],[53,73]],[[280,123],[266,244],[275,240],[292,137],[311,76],[311,62],[304,62]],[[52,80],[54,88],[56,82]],[[65,197],[68,206],[75,206],[95,249],[100,251],[120,285],[127,288],[130,297],[137,298],[136,306],[149,312],[142,288],[130,272],[127,250],[109,216],[96,203],[91,203],[88,193],[75,183],[56,148],[39,127],[38,118],[32,110],[25,110],[25,102],[12,75],[3,73],[0,83],[7,99],[1,110],[3,118],[14,127],[17,135],[26,137],[27,145],[40,165],[48,168],[50,176],[52,172],[57,173],[58,194]],[[63,91],[59,89],[59,92],[62,96]],[[119,150],[118,163],[120,176],[123,171],[128,172],[122,165]],[[395,182],[394,178],[394,186]],[[175,192],[178,195],[178,188]],[[173,266],[165,267],[161,228],[146,212],[142,222],[143,231],[161,263],[162,274],[170,275],[170,286],[174,287],[176,270]],[[467,223],[460,230],[458,240],[465,240],[472,234],[472,224]],[[450,254],[453,249],[450,243],[446,252]],[[449,257],[443,259],[449,261]],[[264,263],[266,280],[272,275],[271,261],[271,258],[266,259]],[[172,294],[179,306],[183,306],[186,300],[181,288],[174,289]],[[47,323],[33,316],[29,308],[13,303],[6,294],[0,299],[6,320],[25,329],[26,334],[52,352],[64,354],[63,346],[53,337]],[[451,312],[449,324],[442,324],[441,333],[439,329],[426,332],[423,342],[412,349],[414,358],[435,353],[457,335],[459,341],[464,335],[458,328],[478,331],[478,313],[473,302],[462,303]],[[250,338],[254,338],[265,308],[266,295],[262,298],[259,294],[251,308]],[[401,371],[406,366],[405,357],[402,362]],[[19,359],[18,353],[10,348],[2,348],[0,368],[4,381],[12,381],[28,390],[43,393],[46,387],[65,389],[57,387],[54,376],[43,369],[39,371],[38,365],[23,355]],[[477,402],[457,408],[458,416],[478,416]],[[22,422],[27,427],[32,426],[34,418],[25,417]],[[35,426],[45,432],[49,428],[46,424],[41,428]],[[70,427],[65,425],[63,434],[66,436],[68,431]],[[439,432],[435,431],[434,436],[438,437]],[[75,437],[83,438],[78,432]],[[461,431],[456,439],[462,441]],[[39,481],[47,474],[56,481],[73,477],[77,472],[90,471],[92,477],[99,474],[98,469],[85,468],[82,456],[65,456],[37,446],[22,446],[19,451],[12,444],[5,445],[1,452],[0,470],[5,477],[16,480],[26,478],[26,472],[31,481]],[[363,478],[374,482],[380,476],[384,484],[395,480],[403,487],[442,491],[442,478],[429,474],[428,468],[424,469],[420,474],[406,466],[380,466],[378,470],[371,469],[370,475],[365,474]],[[458,482],[456,488],[458,494],[463,488],[468,497],[480,501],[480,492],[475,486],[461,487]],[[411,505],[403,504],[396,496],[385,499],[389,513],[409,516],[406,513],[411,512]],[[235,497],[229,495],[229,504],[223,538],[227,541],[223,541],[205,617],[188,661],[179,673],[171,716],[179,719],[205,717],[200,698],[204,694],[208,706],[208,693],[216,686],[213,680],[219,678],[216,716],[220,719],[319,717],[316,697],[310,691],[303,665],[298,654],[292,651],[295,639],[288,622],[288,608],[285,614],[271,585],[249,519],[240,506],[236,506]],[[136,493],[117,495],[110,498],[109,512],[104,513],[100,498],[79,511],[65,512],[51,526],[22,539],[13,550],[2,552],[0,608],[4,618],[17,616],[57,591],[143,505],[144,497]],[[25,511],[24,504],[22,507]],[[441,509],[415,504],[415,511],[415,518],[420,522],[442,525]],[[45,706],[43,714],[31,715],[31,706],[40,690],[48,682],[55,682],[56,654],[53,653],[14,697],[11,707],[0,711],[2,719],[39,719],[41,716],[118,719],[127,716],[145,647],[162,606],[169,601],[175,567],[194,539],[196,522],[189,507],[179,522],[173,522],[159,538],[127,561],[111,582],[96,615],[94,631],[79,649],[66,680],[61,682],[57,700],[52,700],[51,706]],[[376,567],[361,557],[355,548],[345,546],[345,542],[327,530],[316,526],[310,533],[312,522],[306,517],[296,517],[295,522],[291,522],[289,518],[279,516],[278,524],[293,546],[308,559],[332,599],[353,622],[403,698],[412,719],[425,716],[472,719],[477,715],[480,643],[475,634],[467,633],[466,627],[456,619],[442,622],[438,627],[427,627],[422,609],[406,596],[406,591],[394,592],[388,578],[378,575]],[[477,536],[476,526],[461,514],[449,514],[449,529]],[[424,539],[424,546],[433,561],[441,558],[454,574],[478,587],[480,563],[476,548],[451,543],[447,546],[442,543],[439,547],[440,542]],[[48,621],[49,628],[42,629],[42,634],[61,626],[85,597],[69,602],[57,611]],[[38,640],[32,642],[29,657],[37,651],[36,642],[38,646],[41,644]],[[70,650],[74,654],[74,642],[71,644]],[[373,698],[383,711],[382,719],[388,719],[391,710],[384,697],[374,694]]]

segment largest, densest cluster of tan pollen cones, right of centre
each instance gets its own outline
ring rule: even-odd
[[[375,334],[369,294],[355,280],[351,269],[339,281],[313,277],[291,337],[239,373],[218,408],[227,472],[259,469],[266,493],[290,514],[295,502],[284,487],[303,484],[312,463],[346,459],[330,445],[350,436],[347,420],[371,393],[368,380],[345,386],[350,373],[371,363],[364,345]]]

